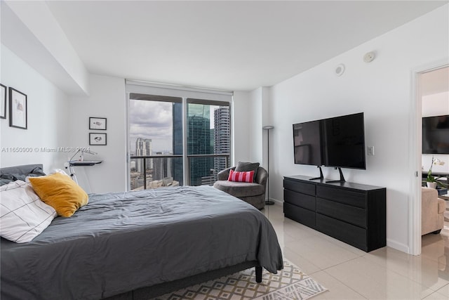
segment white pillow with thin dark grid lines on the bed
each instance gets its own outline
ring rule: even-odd
[[[55,219],[56,211],[39,199],[32,186],[13,181],[0,187],[0,235],[13,242],[29,242]]]

